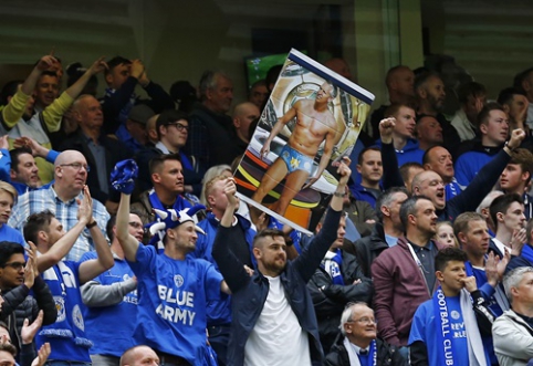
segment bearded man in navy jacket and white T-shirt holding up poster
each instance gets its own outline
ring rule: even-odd
[[[212,257],[232,292],[228,365],[253,364],[257,359],[284,365],[322,363],[324,355],[306,283],[337,238],[343,196],[351,175],[348,164],[349,159],[344,158],[338,166],[341,178],[322,230],[294,261],[286,261],[283,232],[265,229],[258,233],[253,242],[258,268],[251,278],[228,250],[238,202],[234,182],[228,180],[224,187],[228,207],[212,249]]]

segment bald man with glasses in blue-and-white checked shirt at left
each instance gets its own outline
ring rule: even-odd
[[[61,222],[65,230],[72,229],[77,222],[77,201],[84,197],[83,187],[87,179],[87,160],[75,150],[65,150],[55,159],[54,184],[48,189],[33,190],[19,197],[13,207],[13,215],[8,224],[21,230],[25,220],[32,213],[50,210]],[[104,205],[93,199],[93,224],[97,224],[106,234],[105,226],[109,219]],[[77,237],[74,247],[66,255],[66,260],[79,261],[82,255],[94,249],[94,242],[87,226],[83,233]]]

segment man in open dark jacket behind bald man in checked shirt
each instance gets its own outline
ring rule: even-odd
[[[130,158],[133,153],[122,142],[103,133],[104,115],[94,96],[81,95],[72,105],[72,117],[80,128],[61,145],[60,150],[77,150],[85,156],[91,167],[86,182],[91,195],[114,213],[119,196],[111,187],[109,174],[118,161]]]

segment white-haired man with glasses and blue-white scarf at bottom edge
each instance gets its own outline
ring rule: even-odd
[[[341,336],[326,356],[326,366],[391,365],[408,363],[395,346],[377,337],[374,311],[365,303],[351,303],[341,317]],[[373,360],[376,363],[373,363]]]

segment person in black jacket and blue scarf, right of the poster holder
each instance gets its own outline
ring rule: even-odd
[[[316,233],[321,231],[324,219],[323,217],[316,226]],[[339,334],[338,323],[346,305],[354,302],[372,303],[370,279],[363,274],[357,259],[342,250],[345,229],[346,216],[342,216],[337,238],[326,252],[321,266],[307,282],[325,353],[330,352]]]

